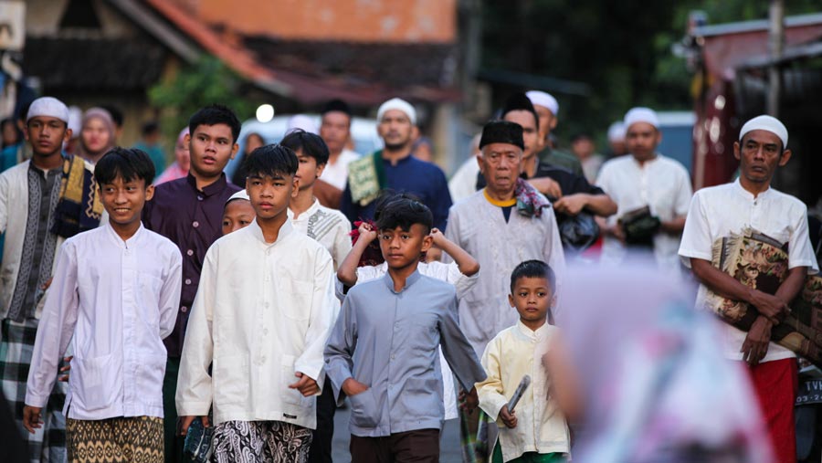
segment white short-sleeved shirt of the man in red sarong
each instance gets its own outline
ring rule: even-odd
[[[818,272],[817,258],[807,234],[806,205],[773,188],[754,198],[739,180],[703,188],[693,195],[680,246],[682,262],[688,268],[690,258],[711,262],[713,243],[732,233],[740,234],[747,226],[781,243],[789,243],[788,268],[807,267],[808,274]],[[705,286],[700,285],[698,307],[703,307],[706,292]],[[722,327],[725,356],[742,360],[740,350],[746,333],[727,323],[722,323]],[[771,342],[762,362],[795,356],[785,347]]]

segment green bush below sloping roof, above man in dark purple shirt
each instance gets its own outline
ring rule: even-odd
[[[254,108],[243,94],[242,79],[219,59],[206,55],[193,66],[181,68],[174,79],[154,85],[149,100],[162,110],[163,132],[174,140],[188,125],[188,118],[208,104],[226,105],[240,121],[248,118]]]

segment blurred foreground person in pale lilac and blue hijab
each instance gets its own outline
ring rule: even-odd
[[[544,360],[551,394],[581,424],[574,462],[773,461],[753,389],[693,289],[637,261],[564,280],[563,339]]]

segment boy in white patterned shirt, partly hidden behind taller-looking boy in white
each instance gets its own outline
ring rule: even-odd
[[[320,204],[314,197],[314,183],[328,163],[328,147],[320,135],[296,130],[280,142],[297,154],[297,175],[300,190],[289,204],[291,224],[300,233],[308,235],[328,249],[334,261],[334,270],[351,251],[351,222],[342,212]]]

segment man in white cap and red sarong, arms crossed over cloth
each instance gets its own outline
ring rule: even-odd
[[[733,155],[740,162],[739,178],[703,188],[693,196],[680,246],[682,263],[701,282],[698,306],[706,307],[711,297],[719,296],[731,306],[746,304],[748,311],[756,313],[753,325],[745,332],[732,326],[737,320],[730,310],[713,309],[726,322],[722,326],[725,356],[749,366],[772,437],[775,461],[780,463],[796,461],[796,354],[770,342],[771,329],[788,311],[786,304],[802,289],[806,275],[818,271],[807,232],[806,205],[771,187],[776,169],[791,158],[787,142],[785,125],[771,116],[745,123],[739,142],[733,143]],[[755,277],[753,284],[746,285],[712,263],[719,262],[717,254],[722,253],[722,246],[715,247],[715,243],[752,233],[787,246],[786,276],[773,294],[756,289]],[[755,256],[751,258],[755,260]],[[757,272],[764,270],[757,268]]]

